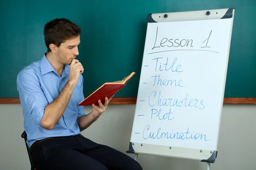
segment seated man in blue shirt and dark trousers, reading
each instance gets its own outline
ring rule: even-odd
[[[142,170],[131,157],[97,144],[81,131],[107,109],[93,105],[84,113],[83,65],[79,55],[81,28],[67,19],[44,26],[47,53],[17,76],[17,90],[32,161],[37,170]]]

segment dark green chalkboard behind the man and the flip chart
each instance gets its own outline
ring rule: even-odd
[[[16,98],[18,72],[41,59],[47,21],[65,17],[82,29],[84,96],[137,72],[115,97],[136,97],[147,14],[236,8],[225,97],[256,97],[256,0],[13,0],[0,3],[0,98]]]

